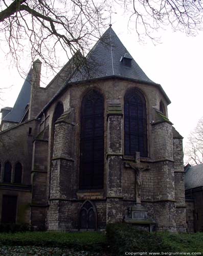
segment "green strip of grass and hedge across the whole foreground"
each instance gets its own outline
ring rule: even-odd
[[[125,252],[201,252],[202,233],[145,232],[110,224],[104,232],[0,233],[0,255],[109,256]]]

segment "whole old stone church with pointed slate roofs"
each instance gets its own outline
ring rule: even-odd
[[[46,88],[40,70],[36,60],[13,108],[1,110],[1,223],[185,231],[183,137],[170,99],[111,25]]]

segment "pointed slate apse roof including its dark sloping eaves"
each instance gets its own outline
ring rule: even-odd
[[[122,57],[131,59],[131,68],[123,66],[123,63],[121,62]],[[171,103],[161,85],[153,82],[147,77],[111,27],[106,30],[93,49],[87,54],[86,58],[81,57],[79,59],[79,63],[81,66],[77,66],[77,68],[73,70],[70,79],[67,79],[60,90],[44,106],[37,117],[40,117],[54,100],[56,100],[70,85],[100,79],[116,78],[151,84],[163,93],[168,104]]]

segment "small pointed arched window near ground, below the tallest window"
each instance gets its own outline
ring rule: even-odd
[[[85,201],[80,209],[79,229],[97,229],[97,212],[90,201]]]

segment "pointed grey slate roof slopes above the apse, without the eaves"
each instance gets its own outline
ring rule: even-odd
[[[123,66],[123,57],[132,59],[130,68]],[[81,68],[70,82],[108,76],[120,76],[152,82],[139,67],[138,63],[131,57],[111,27],[106,30],[89,52],[86,60],[85,67]]]

